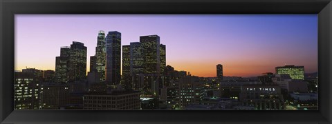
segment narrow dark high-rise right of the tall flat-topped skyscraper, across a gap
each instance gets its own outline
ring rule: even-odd
[[[131,89],[130,45],[122,45],[122,86]]]

